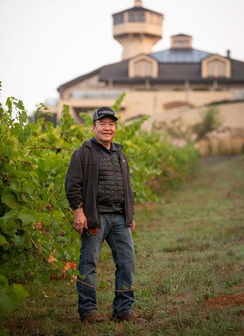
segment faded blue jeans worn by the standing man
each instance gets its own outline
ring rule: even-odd
[[[131,311],[131,305],[135,301],[133,290],[125,291],[133,286],[135,272],[135,252],[130,228],[126,227],[126,218],[120,214],[100,214],[101,228],[97,235],[81,235],[81,255],[79,262],[80,275],[86,275],[86,279],[78,276],[77,279],[97,286],[97,259],[104,239],[111,248],[115,272],[115,289],[123,290],[115,292],[113,302],[113,316],[123,316]],[[78,311],[84,317],[97,310],[96,289],[76,282],[79,295]]]

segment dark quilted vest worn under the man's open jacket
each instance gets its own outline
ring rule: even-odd
[[[124,188],[121,164],[116,148],[111,144],[111,153],[93,141],[98,158],[97,200],[100,213],[124,212]]]

